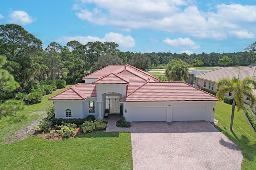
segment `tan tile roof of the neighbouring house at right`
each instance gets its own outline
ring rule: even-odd
[[[256,78],[256,66],[252,67],[241,67],[241,68],[232,68],[232,67],[223,67],[216,70],[211,70],[202,74],[198,74],[195,77],[203,80],[209,80],[216,82],[220,78],[240,78],[240,80],[251,77]]]

